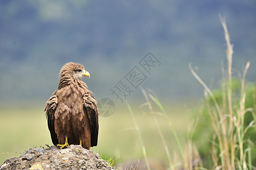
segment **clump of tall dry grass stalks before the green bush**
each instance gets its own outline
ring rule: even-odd
[[[250,125],[244,128],[244,116],[246,112],[253,112],[251,108],[245,108],[245,76],[249,69],[250,62],[247,62],[244,73],[241,78],[241,96],[240,105],[236,111],[233,110],[232,103],[232,55],[233,45],[230,44],[230,38],[228,29],[226,27],[225,19],[220,16],[221,24],[224,28],[224,35],[226,41],[226,58],[228,61],[228,83],[225,80],[224,67],[222,68],[223,73],[223,106],[219,107],[215,96],[211,90],[203,82],[202,79],[192,69],[191,64],[189,68],[191,73],[198,79],[199,83],[205,89],[205,99],[207,112],[211,118],[212,128],[215,131],[212,141],[212,160],[213,169],[251,169],[253,166],[250,163],[250,148],[244,148],[245,141],[244,137],[247,129],[251,128],[254,121],[251,121]],[[226,100],[226,92],[228,99]],[[209,99],[212,99],[214,108],[210,105]],[[228,108],[226,108],[228,103]],[[228,112],[226,112],[226,109]],[[254,108],[255,109],[255,108]],[[247,154],[247,156],[246,156]],[[238,156],[239,155],[239,156]],[[239,158],[238,158],[239,157]],[[249,157],[246,162],[246,157]]]

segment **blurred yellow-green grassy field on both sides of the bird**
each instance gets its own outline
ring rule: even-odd
[[[139,108],[139,104],[131,104],[133,114],[139,126],[141,136],[149,158],[157,158],[167,163],[162,142],[153,121],[152,115],[146,108]],[[166,112],[173,121],[179,138],[184,143],[188,125],[188,116],[184,103],[166,103]],[[23,102],[23,107],[6,105],[0,109],[0,164],[7,158],[20,156],[20,152],[32,146],[52,145],[44,113],[44,102],[29,106],[30,102]],[[169,125],[162,116],[157,116],[163,135],[173,152],[174,137]],[[116,111],[110,117],[100,117],[98,146],[91,148],[99,152],[106,159],[115,158],[117,164],[128,160],[143,158],[137,132],[133,128],[133,120],[127,105],[117,105]],[[15,154],[18,152],[18,154]]]

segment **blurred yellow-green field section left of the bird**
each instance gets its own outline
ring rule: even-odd
[[[32,146],[50,143],[43,107],[16,107],[0,109],[0,163],[20,156]],[[18,153],[18,154],[17,154]]]

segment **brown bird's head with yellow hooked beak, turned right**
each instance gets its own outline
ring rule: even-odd
[[[82,79],[83,76],[89,76],[90,73],[85,70],[79,63],[68,62],[60,70],[60,78],[69,78],[69,79]]]

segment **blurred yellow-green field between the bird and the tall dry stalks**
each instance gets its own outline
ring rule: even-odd
[[[133,115],[140,129],[141,137],[146,148],[146,154],[149,158],[157,158],[167,163],[164,149],[161,147],[162,142],[158,135],[156,125],[154,124],[152,115],[146,108],[139,109],[139,105],[131,104]],[[188,117],[186,117],[185,109],[182,104],[168,107],[170,110],[170,118],[175,122],[174,126],[179,131],[179,137],[186,138]],[[175,145],[171,130],[165,118],[158,116],[163,134],[171,148]],[[111,117],[100,118],[99,143],[93,150],[99,150],[108,158],[116,158],[117,163],[124,163],[129,160],[138,160],[143,158],[140,138],[137,135],[134,122],[127,106],[117,107],[115,113]],[[176,150],[175,148],[171,151]]]

